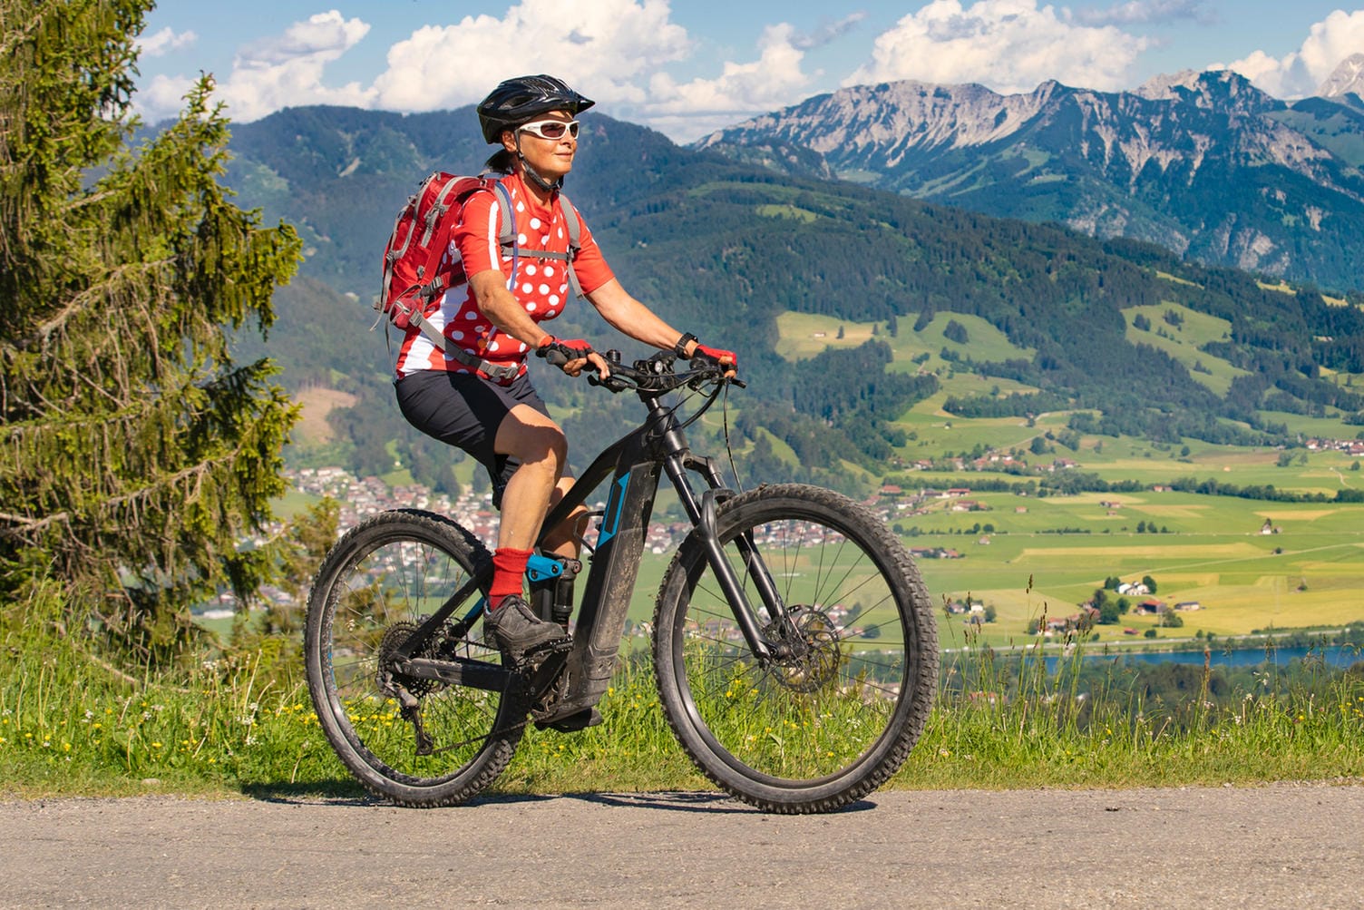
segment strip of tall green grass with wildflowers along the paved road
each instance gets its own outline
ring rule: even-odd
[[[11,614],[11,618],[14,615]],[[30,621],[35,617],[29,615]],[[5,625],[0,774],[11,795],[359,794],[307,692],[267,645],[164,678],[130,678],[42,622]],[[1123,677],[1003,662],[973,640],[904,768],[929,789],[1248,784],[1364,775],[1364,679],[1320,671],[1285,685],[1165,704]],[[1316,671],[1312,671],[1316,673]],[[1080,696],[1084,697],[1080,697]],[[529,730],[502,793],[708,789],[672,739],[645,660],[578,734]]]

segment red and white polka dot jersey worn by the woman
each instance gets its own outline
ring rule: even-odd
[[[578,218],[581,225],[578,237],[581,248],[573,261],[573,270],[582,285],[582,292],[592,293],[615,277],[587,224],[582,224],[582,218],[572,210],[563,211],[558,194],[555,194],[551,206],[543,209],[517,175],[503,177],[502,184],[512,194],[520,254],[516,262],[516,285],[510,291],[532,319],[543,322],[555,318],[563,312],[563,307],[573,295],[567,265],[563,259],[536,259],[525,255],[531,250],[567,252],[569,231],[565,226],[565,217]],[[458,248],[465,274],[473,276],[488,269],[501,269],[507,280],[512,278],[510,251],[503,255],[503,251],[498,248],[501,205],[492,191],[475,192],[464,202],[460,222],[451,232],[450,244]],[[525,372],[528,345],[503,334],[492,325],[491,319],[483,315],[468,284],[446,291],[441,306],[434,312],[428,312],[427,319],[465,352],[498,366],[518,366],[517,375]],[[420,329],[412,327],[408,329],[402,348],[398,351],[397,374],[401,379],[417,370],[475,372],[458,360],[447,357]],[[483,374],[479,372],[479,375]]]

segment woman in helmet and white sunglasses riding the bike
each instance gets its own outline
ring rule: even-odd
[[[577,153],[576,117],[592,104],[547,75],[507,79],[479,104],[484,139],[501,146],[487,166],[505,175],[499,181],[514,209],[518,255],[498,246],[503,205],[498,194],[469,196],[451,232],[468,282],[447,291],[439,308],[427,314],[446,337],[446,349],[413,327],[398,352],[396,387],[402,415],[423,432],[472,454],[492,478],[502,521],[484,629],[513,660],[563,634],[529,608],[521,578],[546,513],[573,484],[565,473],[563,430],[532,387],[527,356],[557,352],[566,357],[562,370],[574,377],[588,364],[610,372],[591,344],[557,338],[540,326],[558,317],[570,296],[566,218],[578,220],[573,271],[584,296],[611,326],[682,357],[738,362],[732,352],[708,348],[672,329],[632,297],[578,213],[561,205],[559,187]],[[546,538],[544,548],[576,557],[581,518],[582,510],[570,516]]]

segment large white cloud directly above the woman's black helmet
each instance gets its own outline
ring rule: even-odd
[[[648,76],[692,50],[686,29],[668,16],[664,0],[524,0],[501,19],[426,26],[389,50],[376,104],[450,108],[509,76],[548,72],[596,101],[637,105]]]

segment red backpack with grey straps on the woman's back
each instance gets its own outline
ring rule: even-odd
[[[421,181],[421,188],[398,211],[393,233],[383,248],[383,287],[374,302],[374,308],[387,315],[390,325],[402,330],[409,326],[420,329],[446,353],[461,362],[468,355],[454,345],[447,345],[445,336],[426,317],[436,306],[441,295],[466,278],[460,251],[450,246],[450,231],[458,222],[460,207],[480,190],[498,194],[501,203],[498,244],[503,254],[510,251],[512,278],[507,287],[516,287],[521,252],[516,241],[512,194],[498,180],[486,175],[458,177],[436,171]],[[533,250],[525,255],[533,259],[566,261],[573,289],[581,295],[577,276],[573,273],[573,259],[580,250],[578,213],[563,194],[559,194],[559,202],[567,221],[569,252],[565,255]]]

